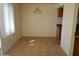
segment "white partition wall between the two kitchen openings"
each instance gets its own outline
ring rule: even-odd
[[[64,4],[61,47],[67,55],[73,55],[74,33],[77,22],[78,5]]]

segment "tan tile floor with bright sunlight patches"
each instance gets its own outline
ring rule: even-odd
[[[66,56],[56,38],[24,37],[6,53],[10,56]]]

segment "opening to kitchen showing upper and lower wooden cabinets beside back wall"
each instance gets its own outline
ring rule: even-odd
[[[63,6],[59,7],[57,12],[58,12],[58,16],[57,16],[57,33],[56,33],[56,38],[59,40],[59,44],[61,43],[61,32],[62,32],[62,21],[63,21]]]

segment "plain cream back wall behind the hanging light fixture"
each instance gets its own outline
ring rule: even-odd
[[[57,4],[39,4],[41,14],[33,14],[37,4],[21,4],[22,35],[56,37]]]

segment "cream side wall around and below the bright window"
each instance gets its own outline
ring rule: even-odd
[[[2,6],[1,6],[2,8]],[[20,24],[20,13],[19,13],[19,4],[14,4],[14,15],[15,15],[15,34],[3,39],[2,38],[2,49],[3,49],[3,53],[5,53],[9,48],[11,48],[18,39],[20,39],[21,37],[21,24]],[[2,11],[3,12],[3,11]],[[3,19],[3,18],[2,18]],[[0,19],[0,20],[2,20]],[[2,27],[2,26],[1,26]],[[1,33],[1,35],[3,34],[3,32]]]

